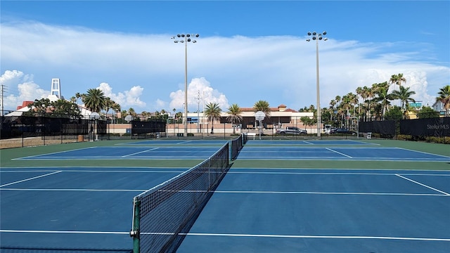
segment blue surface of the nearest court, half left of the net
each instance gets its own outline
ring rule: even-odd
[[[132,200],[188,168],[1,168],[1,246],[131,249]]]

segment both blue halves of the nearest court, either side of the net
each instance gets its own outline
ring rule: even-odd
[[[186,169],[2,168],[1,245],[131,249],[132,198]],[[448,171],[232,168],[178,252],[448,252],[449,214]]]

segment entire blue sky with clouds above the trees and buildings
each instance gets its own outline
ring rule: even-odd
[[[414,98],[430,104],[450,82],[450,1],[1,1],[4,105],[100,88],[136,112],[183,110],[184,44],[188,109],[215,102],[252,107],[266,100],[321,107],[358,86],[403,73]],[[393,89],[398,89],[392,86]],[[395,102],[394,102],[395,104]]]

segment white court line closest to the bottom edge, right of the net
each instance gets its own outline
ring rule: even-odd
[[[174,233],[141,232],[142,235],[174,235]],[[392,236],[359,236],[359,235],[263,235],[263,234],[229,234],[229,233],[179,233],[179,235],[195,236],[231,236],[256,238],[313,238],[313,239],[375,239],[375,240],[423,240],[450,242],[450,238],[409,238]]]

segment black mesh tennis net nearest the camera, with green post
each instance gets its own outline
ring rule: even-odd
[[[175,252],[229,169],[229,143],[179,176],[134,197],[134,252]]]

